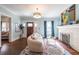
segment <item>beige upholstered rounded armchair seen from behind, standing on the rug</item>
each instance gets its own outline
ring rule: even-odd
[[[43,52],[43,39],[38,33],[34,33],[27,39],[29,50],[32,52]]]

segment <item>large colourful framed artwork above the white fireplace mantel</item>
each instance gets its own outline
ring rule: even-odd
[[[61,23],[62,25],[71,25],[75,24],[75,22],[76,20],[75,20],[75,4],[74,4],[61,14]]]

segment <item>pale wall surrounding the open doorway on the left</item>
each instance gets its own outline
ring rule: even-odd
[[[14,40],[18,39],[20,32],[15,32],[15,24],[16,23],[20,24],[20,17],[13,14],[10,10],[6,9],[3,6],[0,6],[0,14],[1,15],[4,14],[4,15],[11,17],[11,40],[10,41],[14,41]]]

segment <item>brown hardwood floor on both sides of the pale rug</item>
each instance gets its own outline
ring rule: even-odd
[[[19,39],[11,43],[3,44],[0,49],[0,55],[19,55],[20,52],[27,46],[27,39]],[[66,44],[56,40],[58,44],[60,44],[63,48],[68,50],[72,55],[79,55],[79,52],[75,51],[71,47]]]

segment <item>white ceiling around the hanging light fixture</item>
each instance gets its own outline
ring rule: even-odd
[[[3,4],[2,6],[19,16],[32,16],[38,8],[43,17],[56,17],[71,4]]]

